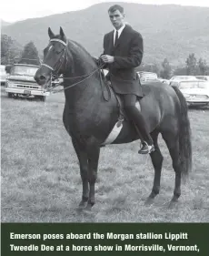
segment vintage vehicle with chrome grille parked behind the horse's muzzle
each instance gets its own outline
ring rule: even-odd
[[[8,97],[38,97],[45,100],[43,87],[35,82],[35,72],[39,66],[29,64],[13,64],[9,67],[5,92]]]

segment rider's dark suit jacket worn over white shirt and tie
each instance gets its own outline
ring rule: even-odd
[[[114,56],[114,62],[107,67],[116,93],[143,96],[134,68],[141,64],[143,51],[143,38],[131,26],[124,26],[115,46],[114,30],[104,36],[104,55]]]

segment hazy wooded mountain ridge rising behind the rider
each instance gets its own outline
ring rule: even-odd
[[[85,46],[91,55],[99,56],[103,52],[104,34],[113,30],[107,14],[113,4],[101,3],[83,10],[15,22],[4,26],[2,33],[22,45],[34,41],[42,53],[48,42],[48,26],[55,34],[62,26],[69,39]],[[144,62],[159,63],[167,57],[174,65],[182,64],[193,52],[197,58],[209,60],[208,7],[117,4],[124,6],[125,20],[144,37]]]

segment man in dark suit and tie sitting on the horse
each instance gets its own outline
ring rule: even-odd
[[[140,66],[143,58],[143,37],[131,26],[124,23],[124,8],[113,5],[108,9],[114,31],[104,36],[104,54],[100,58],[108,68],[108,79],[124,100],[124,111],[134,122],[143,147],[140,154],[154,151],[153,139],[148,133],[147,124],[140,110],[135,107],[136,100],[143,97],[142,87],[135,67]]]

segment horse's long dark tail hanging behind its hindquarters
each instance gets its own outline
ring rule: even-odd
[[[184,95],[177,87],[173,88],[181,105],[181,111],[179,113],[179,148],[181,170],[183,178],[185,179],[192,170],[191,128],[188,118],[188,107]]]

